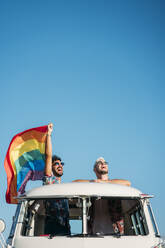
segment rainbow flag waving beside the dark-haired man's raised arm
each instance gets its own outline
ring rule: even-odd
[[[15,135],[10,142],[4,166],[7,174],[6,202],[25,192],[29,180],[41,180],[45,166],[47,126],[31,128]]]

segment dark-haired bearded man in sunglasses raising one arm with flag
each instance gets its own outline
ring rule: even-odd
[[[51,134],[53,131],[53,124],[48,125],[48,132],[45,144],[45,171],[43,184],[61,183],[63,175],[64,163],[61,158],[52,156],[52,141]],[[44,234],[50,235],[68,235],[70,234],[69,225],[69,207],[66,199],[50,199],[46,202],[46,220]]]

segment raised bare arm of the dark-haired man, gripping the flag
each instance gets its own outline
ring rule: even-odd
[[[51,134],[53,131],[53,123],[50,123],[48,125],[48,132],[46,136],[46,143],[45,143],[45,176],[51,176],[52,175],[52,140],[51,140]]]

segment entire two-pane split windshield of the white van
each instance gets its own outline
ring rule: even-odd
[[[77,197],[29,200],[23,236],[147,235],[139,199]]]

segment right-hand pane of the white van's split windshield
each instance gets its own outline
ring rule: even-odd
[[[144,212],[138,199],[91,198],[88,232],[110,235],[147,235]]]

